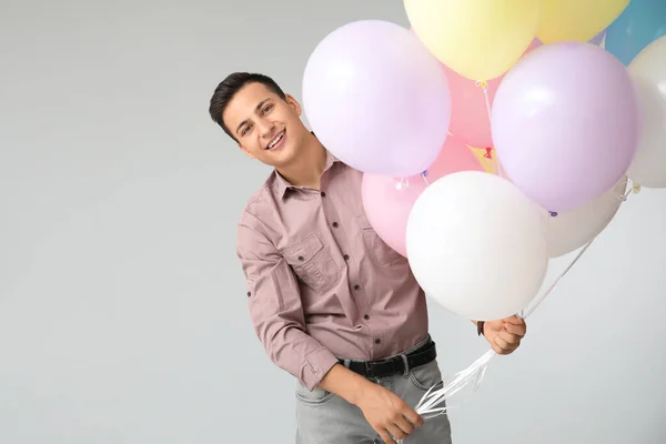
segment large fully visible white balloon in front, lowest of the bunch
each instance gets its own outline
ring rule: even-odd
[[[407,258],[425,293],[472,320],[518,313],[547,268],[546,218],[507,180],[463,171],[433,182],[407,221]]]

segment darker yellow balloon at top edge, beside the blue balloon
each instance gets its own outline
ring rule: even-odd
[[[625,10],[629,0],[543,0],[536,37],[544,43],[588,41]]]

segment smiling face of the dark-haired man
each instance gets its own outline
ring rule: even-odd
[[[297,153],[307,129],[294,98],[281,99],[261,83],[244,85],[222,114],[224,124],[251,158],[282,167]]]

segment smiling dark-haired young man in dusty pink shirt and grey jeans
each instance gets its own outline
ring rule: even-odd
[[[232,73],[209,111],[274,168],[241,215],[238,255],[254,330],[299,382],[296,443],[451,443],[446,415],[424,422],[412,408],[442,379],[425,295],[370,225],[362,173],[326,151],[269,77]],[[477,325],[501,354],[525,334],[517,317]]]

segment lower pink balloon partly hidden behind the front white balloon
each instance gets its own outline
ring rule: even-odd
[[[457,171],[483,171],[472,151],[460,140],[448,137],[435,162],[427,171],[427,182]],[[389,246],[402,254],[406,251],[407,220],[414,202],[427,186],[421,175],[395,179],[364,173],[361,186],[363,206],[370,224]]]

